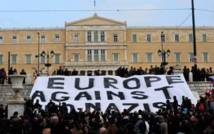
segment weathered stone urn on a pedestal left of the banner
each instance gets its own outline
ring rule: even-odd
[[[13,116],[14,112],[18,112],[18,115],[23,115],[24,112],[24,98],[20,95],[20,91],[23,89],[23,80],[25,75],[10,75],[11,88],[14,91],[14,96],[11,96],[8,100],[8,118]]]

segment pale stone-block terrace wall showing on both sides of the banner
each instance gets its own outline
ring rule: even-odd
[[[199,95],[204,95],[207,90],[214,89],[213,84],[210,82],[191,82],[188,83],[192,91],[197,91]],[[24,98],[29,98],[32,85],[25,85],[21,91]],[[5,84],[0,86],[0,103],[7,104],[7,100],[14,94],[11,85]]]

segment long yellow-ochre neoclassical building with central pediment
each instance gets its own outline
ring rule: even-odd
[[[196,27],[196,41],[198,66],[214,66],[214,27]],[[98,69],[108,74],[120,66],[160,66],[159,49],[170,50],[168,66],[190,67],[192,42],[191,27],[129,27],[95,14],[65,22],[62,28],[1,28],[0,68],[25,69],[32,74],[37,69],[50,73],[64,66],[82,74]]]

